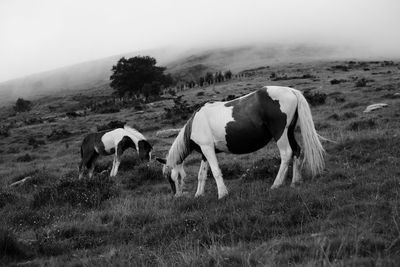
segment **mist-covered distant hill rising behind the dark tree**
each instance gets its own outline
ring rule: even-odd
[[[122,56],[150,55],[159,65],[178,79],[197,80],[207,71],[232,70],[272,65],[292,61],[332,59],[346,57],[343,50],[311,45],[258,45],[218,49],[179,51],[163,48],[131,52],[95,61],[42,72],[0,83],[0,104],[10,103],[18,97],[38,96],[70,90],[82,90],[104,86],[109,83],[111,68]]]

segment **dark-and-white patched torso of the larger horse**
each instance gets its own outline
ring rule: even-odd
[[[193,128],[199,133],[192,135],[197,140],[211,135],[221,151],[250,153],[271,138],[280,138],[293,118],[296,101],[291,88],[268,86],[231,101],[206,104],[195,115]]]

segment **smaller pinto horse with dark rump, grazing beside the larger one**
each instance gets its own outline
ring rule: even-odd
[[[146,138],[137,130],[125,125],[112,131],[102,131],[88,134],[81,145],[81,163],[79,164],[79,179],[83,177],[84,168],[93,176],[94,166],[99,155],[114,154],[113,167],[110,176],[117,175],[121,156],[127,148],[133,148],[141,160],[151,159],[152,147]]]

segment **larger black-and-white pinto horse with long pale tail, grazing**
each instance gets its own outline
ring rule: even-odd
[[[271,188],[282,185],[293,159],[292,186],[301,181],[300,146],[294,137],[299,123],[304,163],[314,176],[324,168],[324,149],[303,94],[293,88],[265,86],[255,92],[226,102],[207,103],[196,111],[181,129],[166,159],[163,173],[169,179],[175,196],[182,194],[185,180],[184,159],[193,151],[202,154],[195,197],[204,194],[208,168],[218,187],[218,198],[228,194],[216,153],[245,154],[254,152],[274,138],[281,164]],[[180,181],[179,181],[180,176]]]

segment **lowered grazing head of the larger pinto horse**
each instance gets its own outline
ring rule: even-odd
[[[163,164],[163,175],[171,185],[172,193],[175,196],[182,194],[183,181],[186,177],[186,173],[183,169],[183,164],[175,165],[174,167],[167,164],[166,159],[156,158],[158,162]],[[179,180],[180,176],[180,180]]]

